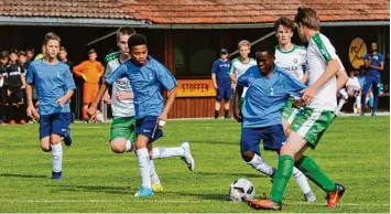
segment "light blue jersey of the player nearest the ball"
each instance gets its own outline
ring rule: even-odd
[[[248,87],[241,113],[243,127],[250,128],[282,124],[281,107],[306,87],[276,65],[271,77],[262,76],[258,66],[250,67],[238,85]]]

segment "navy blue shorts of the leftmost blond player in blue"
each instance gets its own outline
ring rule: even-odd
[[[56,133],[65,136],[70,126],[70,113],[55,113],[40,116],[40,139]]]

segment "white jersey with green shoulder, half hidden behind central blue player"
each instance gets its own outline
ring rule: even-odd
[[[107,55],[105,61],[106,61],[105,77],[107,77],[121,65],[120,52],[115,52]],[[126,92],[126,93],[132,92],[132,87],[127,77],[120,78],[112,84],[112,93],[111,93],[112,116],[133,117],[134,116],[133,99],[119,100],[116,97],[116,94],[118,92]]]

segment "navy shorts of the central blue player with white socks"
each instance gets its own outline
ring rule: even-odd
[[[163,137],[163,130],[159,128],[158,116],[145,116],[135,120],[135,133],[150,139],[149,143]]]

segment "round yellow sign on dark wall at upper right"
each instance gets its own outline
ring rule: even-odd
[[[361,38],[356,38],[349,46],[349,61],[352,67],[360,68],[363,65],[363,56],[367,54],[366,42]]]

